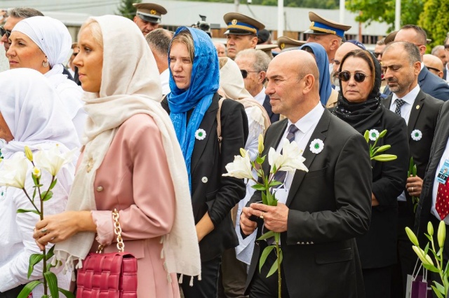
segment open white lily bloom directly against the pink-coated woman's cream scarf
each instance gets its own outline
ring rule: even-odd
[[[36,167],[45,169],[52,176],[58,175],[63,165],[71,163],[77,149],[61,153],[58,145],[48,150],[41,150],[34,154],[34,164]]]

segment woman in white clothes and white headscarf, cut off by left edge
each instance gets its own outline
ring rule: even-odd
[[[25,189],[33,194],[32,163],[25,158],[25,146],[32,151],[51,149],[58,144],[60,151],[79,147],[76,130],[64,113],[62,104],[45,77],[34,69],[11,69],[0,74],[0,137],[6,140],[1,149],[5,161],[0,163],[0,181],[8,178],[8,160],[21,160],[28,166]],[[53,197],[44,203],[44,214],[51,215],[65,210],[74,179],[74,165],[64,165],[57,175],[58,183]],[[41,171],[44,188],[51,183],[51,175]],[[40,205],[39,196],[34,204]],[[0,297],[17,297],[22,287],[31,280],[42,278],[42,263],[34,266],[27,278],[30,255],[41,253],[32,238],[39,215],[33,212],[16,213],[18,209],[33,210],[32,203],[22,189],[0,187]],[[51,245],[48,245],[50,248]],[[58,273],[58,286],[68,289],[70,275]],[[41,297],[43,287],[33,290],[34,297]]]

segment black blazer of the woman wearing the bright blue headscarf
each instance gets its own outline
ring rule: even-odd
[[[192,207],[195,224],[209,212],[214,229],[199,243],[201,261],[218,257],[228,248],[239,244],[231,219],[231,209],[245,197],[246,187],[241,179],[222,177],[225,166],[234,161],[245,147],[248,137],[248,118],[242,104],[224,100],[220,111],[222,128],[221,154],[217,136],[217,111],[219,95],[215,93],[212,104],[204,114],[199,128],[206,130],[204,140],[195,140],[192,152]],[[168,102],[162,101],[168,114]]]

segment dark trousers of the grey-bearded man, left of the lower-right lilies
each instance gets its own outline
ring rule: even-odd
[[[406,202],[398,202],[398,264],[393,266],[391,275],[391,297],[404,297],[407,275],[413,273],[417,255],[408,239],[406,226],[413,230],[415,215]]]

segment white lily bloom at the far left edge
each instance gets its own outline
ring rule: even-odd
[[[4,159],[0,170],[0,186],[23,189],[27,176],[28,160],[25,156],[14,154],[10,159]]]

